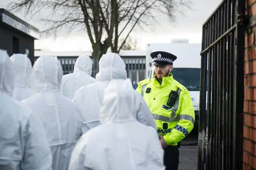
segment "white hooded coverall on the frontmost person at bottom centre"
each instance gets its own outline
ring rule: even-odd
[[[83,134],[69,170],[164,170],[156,129],[134,115],[130,80],[112,80],[104,93],[99,125]]]

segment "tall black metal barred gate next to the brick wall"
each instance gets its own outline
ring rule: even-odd
[[[198,170],[242,169],[245,0],[223,0],[203,24]]]

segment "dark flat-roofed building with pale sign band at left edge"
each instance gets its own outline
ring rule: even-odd
[[[0,49],[6,50],[10,56],[26,53],[34,64],[35,39],[39,39],[37,28],[0,8]]]

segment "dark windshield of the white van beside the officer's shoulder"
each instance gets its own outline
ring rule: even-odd
[[[173,68],[173,78],[190,91],[200,90],[200,68]]]

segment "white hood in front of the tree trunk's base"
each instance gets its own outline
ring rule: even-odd
[[[102,55],[96,80],[126,79],[127,73],[122,58],[116,53]]]

